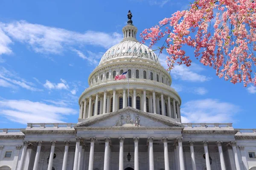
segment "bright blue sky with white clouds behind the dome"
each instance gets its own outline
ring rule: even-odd
[[[189,1],[0,1],[0,128],[77,122],[79,95],[102,54],[122,40],[128,10],[138,32]],[[137,37],[138,34],[137,34]],[[140,38],[138,39],[140,40]],[[193,50],[186,52],[193,56]],[[166,54],[160,56],[165,66]],[[255,127],[256,88],[219,79],[192,58],[171,71],[183,122]]]

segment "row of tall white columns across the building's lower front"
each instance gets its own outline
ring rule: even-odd
[[[124,155],[124,153],[123,153],[124,139],[125,139],[125,137],[119,137],[119,170],[123,170],[123,168],[124,168],[124,156],[123,156]],[[90,156],[89,156],[88,170],[93,170],[95,140],[96,140],[95,137],[90,138]],[[133,140],[134,140],[134,170],[139,170],[139,146],[138,146],[138,144],[139,144],[140,138],[134,137]],[[163,141],[163,150],[164,150],[164,152],[163,152],[164,166],[165,166],[165,170],[169,170],[168,138],[163,137],[162,141]],[[148,148],[148,169],[149,170],[154,170],[153,142],[154,142],[154,137],[148,137],[147,148]],[[38,169],[38,162],[39,162],[42,143],[43,143],[42,141],[37,142],[37,150],[36,150],[33,170]],[[50,149],[50,156],[49,156],[47,170],[52,170],[53,155],[54,155],[56,141],[51,141],[50,143],[51,143],[51,149]],[[188,143],[190,146],[192,170],[196,170],[197,167],[196,167],[195,152],[194,152],[194,143],[195,142],[189,141]],[[23,170],[25,155],[29,149],[32,150],[32,148],[28,147],[29,144],[31,144],[29,141],[23,142],[23,150],[22,150],[20,163],[19,163],[17,170]],[[65,150],[64,150],[62,170],[67,169],[67,158],[68,158],[68,150],[69,150],[70,141],[64,141],[64,144],[65,144]],[[207,170],[211,170],[208,141],[202,141],[202,144],[204,145],[204,153],[205,153],[205,161],[206,161],[205,163],[206,163]],[[218,146],[221,170],[226,170],[224,156],[223,156],[223,150],[222,150],[222,142],[217,141],[216,145]],[[238,158],[237,149],[236,149],[236,142],[235,141],[230,142],[228,145],[231,146],[232,150],[233,150],[236,170],[240,170],[239,158]],[[110,147],[111,147],[111,138],[105,137],[104,170],[110,169],[110,157],[111,157],[110,156]],[[76,137],[76,151],[75,151],[75,156],[74,156],[73,170],[81,170],[81,167],[83,167],[84,162],[82,160],[84,158],[85,148],[86,148],[86,145],[84,144],[83,139],[81,137]],[[174,140],[173,149],[174,149],[174,153],[175,153],[175,169],[185,170],[185,163],[184,163],[184,159],[183,159],[183,137],[177,137]]]

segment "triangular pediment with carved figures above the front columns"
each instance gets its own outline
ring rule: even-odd
[[[183,127],[175,119],[131,107],[84,119],[76,127]]]

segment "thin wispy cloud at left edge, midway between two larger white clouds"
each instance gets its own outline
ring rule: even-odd
[[[27,82],[25,79],[20,78],[14,71],[9,71],[4,67],[0,67],[0,86],[6,88],[15,88],[21,87],[30,91],[43,91],[42,89],[35,88],[34,83]]]

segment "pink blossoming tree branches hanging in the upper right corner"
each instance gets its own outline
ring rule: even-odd
[[[164,29],[163,29],[164,28]],[[162,29],[164,31],[162,31]],[[194,48],[195,57],[213,67],[219,77],[236,84],[256,85],[256,2],[254,0],[196,0],[158,25],[145,29],[142,42],[150,48],[165,39],[168,69],[173,64],[191,65],[183,49]]]

